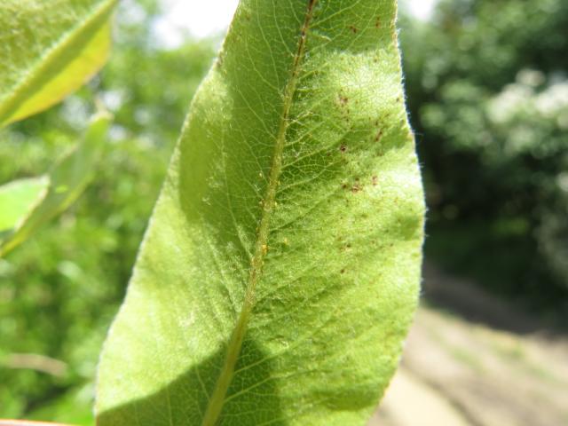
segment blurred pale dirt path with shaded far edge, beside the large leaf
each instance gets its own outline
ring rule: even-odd
[[[568,336],[467,281],[431,266],[425,275],[426,295],[445,295],[447,310],[422,304],[369,426],[568,425]]]

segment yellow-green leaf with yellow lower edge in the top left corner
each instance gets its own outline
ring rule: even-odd
[[[117,0],[3,0],[0,127],[39,113],[106,62]]]

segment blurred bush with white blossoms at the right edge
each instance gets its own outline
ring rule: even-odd
[[[497,154],[528,156],[542,165],[531,176],[547,201],[535,206],[540,223],[534,236],[550,268],[568,277],[568,79],[522,70],[487,103],[487,112],[501,142]]]

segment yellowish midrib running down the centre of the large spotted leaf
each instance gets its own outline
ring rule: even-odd
[[[296,83],[300,69],[301,60],[304,58],[304,50],[308,28],[312,21],[313,8],[318,0],[309,0],[307,11],[305,13],[304,25],[300,32],[300,39],[294,56],[294,63],[292,65],[288,84],[284,91],[284,102],[282,107],[282,114],[280,116],[280,127],[276,144],[274,146],[274,154],[272,156],[272,166],[268,178],[268,185],[263,200],[262,217],[260,225],[258,226],[258,233],[256,235],[255,254],[250,262],[250,269],[248,274],[248,284],[245,290],[244,302],[242,305],[241,313],[235,324],[233,335],[227,346],[227,353],[225,356],[225,363],[221,369],[221,373],[217,378],[215,388],[209,398],[209,405],[203,415],[201,426],[215,426],[219,415],[223,409],[225,402],[225,395],[229,389],[229,385],[233,380],[234,367],[239,359],[241,353],[242,342],[244,335],[247,331],[248,319],[255,302],[255,289],[256,283],[262,275],[264,256],[268,250],[268,233],[272,209],[274,208],[274,201],[276,198],[276,189],[278,187],[278,179],[282,170],[282,154],[286,142],[286,132],[288,130],[288,117],[292,106],[294,93],[296,92]]]

